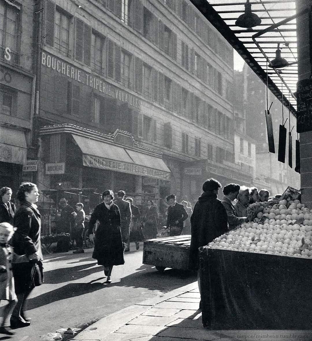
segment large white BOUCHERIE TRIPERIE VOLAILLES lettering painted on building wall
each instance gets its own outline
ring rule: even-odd
[[[115,85],[108,83],[103,78],[76,68],[76,66],[47,52],[42,51],[41,64],[65,77],[73,79],[79,83],[86,84],[87,86],[105,93],[119,101],[128,103],[137,109],[141,108],[141,100],[138,97],[125,90],[117,88]]]

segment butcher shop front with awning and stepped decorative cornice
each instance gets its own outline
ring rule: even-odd
[[[66,188],[69,193],[79,189],[87,212],[99,203],[105,189],[124,190],[137,205],[148,198],[159,205],[160,185],[170,182],[162,153],[139,146],[127,132],[105,135],[60,124],[41,128],[40,136],[45,186]]]

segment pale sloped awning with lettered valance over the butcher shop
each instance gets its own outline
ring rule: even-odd
[[[161,158],[72,134],[83,153],[83,165],[169,180],[170,169]]]

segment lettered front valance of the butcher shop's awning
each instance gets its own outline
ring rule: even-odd
[[[169,180],[170,177],[170,173],[164,172],[163,170],[148,168],[129,162],[100,158],[88,154],[83,154],[83,165],[162,180]]]

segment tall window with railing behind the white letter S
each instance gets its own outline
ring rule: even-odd
[[[1,54],[0,59],[6,63],[18,64],[18,14],[17,8],[10,6],[5,1],[0,3],[0,44]],[[11,50],[9,58],[5,53],[5,48],[9,47]],[[6,58],[5,58],[6,57]]]

